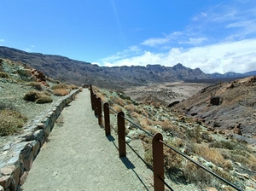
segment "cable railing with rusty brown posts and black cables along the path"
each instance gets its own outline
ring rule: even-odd
[[[90,89],[91,89],[91,86],[90,86]],[[178,153],[179,155],[183,156],[183,158],[188,159],[190,162],[194,163],[195,165],[198,165],[198,166],[201,167],[204,171],[207,171],[208,173],[210,173],[212,176],[217,177],[219,180],[221,180],[221,181],[225,182],[226,184],[230,185],[230,187],[235,188],[236,190],[239,190],[239,191],[242,190],[241,188],[238,188],[238,187],[237,187],[235,184],[233,184],[232,182],[227,181],[227,180],[224,179],[223,177],[218,176],[218,174],[216,174],[215,172],[208,170],[205,166],[199,164],[199,163],[196,162],[195,160],[190,159],[189,156],[187,156],[186,154],[184,154],[184,153],[178,151],[176,148],[172,148],[172,146],[166,144],[166,142],[163,142],[162,136],[161,136],[160,133],[157,133],[157,134],[155,134],[155,135],[152,135],[152,134],[149,133],[147,130],[144,130],[144,129],[143,129],[142,127],[140,127],[138,124],[135,124],[133,121],[131,121],[131,119],[125,118],[125,113],[115,111],[112,107],[109,107],[108,104],[107,104],[107,107],[106,107],[106,108],[108,108],[108,116],[105,116],[105,111],[104,111],[104,116],[103,116],[103,115],[102,115],[102,104],[103,104],[103,101],[101,101],[101,99],[98,98],[98,99],[99,99],[99,102],[100,102],[100,105],[101,105],[101,108],[98,108],[98,107],[96,107],[96,105],[97,105],[97,104],[96,104],[96,100],[97,100],[97,99],[96,99],[96,97],[95,97],[95,100],[94,100],[94,99],[92,98],[92,96],[93,96],[93,92],[92,92],[92,89],[91,89],[91,101],[94,101],[94,103],[91,102],[91,107],[92,107],[93,110],[95,110],[95,113],[97,113],[98,118],[99,118],[99,117],[100,117],[100,118],[103,117],[103,118],[105,119],[105,126],[108,124],[109,127],[110,127],[111,129],[113,129],[118,135],[120,134],[119,131],[122,131],[122,136],[119,137],[119,156],[122,157],[122,156],[125,156],[125,154],[126,154],[124,144],[127,145],[129,148],[131,148],[131,150],[132,150],[134,153],[137,154],[137,157],[138,157],[139,159],[142,159],[143,163],[144,163],[145,165],[147,165],[147,167],[148,167],[151,171],[154,172],[154,179],[158,179],[158,181],[157,181],[157,180],[156,180],[156,181],[154,180],[154,184],[160,184],[159,182],[161,182],[161,183],[163,183],[163,185],[166,185],[167,188],[169,188],[170,190],[173,190],[173,189],[165,182],[165,180],[164,180],[164,170],[162,169],[162,170],[160,170],[160,172],[159,172],[159,170],[156,169],[158,172],[155,174],[154,168],[156,168],[158,165],[155,165],[155,167],[152,168],[152,167],[151,167],[150,165],[148,165],[148,163],[139,155],[139,153],[137,153],[137,152],[131,147],[131,145],[130,145],[129,143],[125,142],[125,130],[124,130],[124,129],[125,129],[125,120],[128,121],[129,123],[133,124],[135,127],[137,127],[137,129],[142,130],[142,131],[143,131],[144,133],[146,133],[148,136],[153,137],[153,153],[154,153],[154,150],[158,150],[158,149],[155,149],[155,148],[159,148],[159,147],[160,147],[160,144],[162,145],[161,147],[166,146],[167,148],[172,149],[172,151],[174,151],[175,153]],[[105,104],[106,104],[106,103],[105,103]],[[105,107],[104,107],[104,108],[105,108]],[[113,125],[110,124],[110,121],[109,121],[109,110],[113,111],[113,113],[115,113],[115,114],[117,115],[117,117],[118,117],[118,130],[115,130],[115,128],[113,128]],[[107,118],[107,117],[108,117],[108,118]],[[106,118],[108,119],[109,123],[106,123]],[[101,122],[100,122],[100,119],[99,119],[99,124],[100,124],[100,123],[101,123]],[[120,126],[120,127],[119,127],[119,126]],[[106,128],[105,128],[105,129],[106,129]],[[110,132],[109,132],[109,133],[110,133]],[[106,134],[106,135],[107,135],[107,134]],[[158,146],[154,146],[154,142],[160,142],[160,144],[157,143]],[[121,151],[120,151],[120,150],[121,150]],[[161,150],[161,152],[162,152],[162,153],[160,153],[160,155],[162,155],[162,158],[163,158],[163,148],[160,148],[160,150]],[[159,154],[159,151],[157,151],[157,153]],[[160,161],[159,159],[157,159],[157,157],[158,157],[157,155],[154,156],[154,154],[153,154],[153,158],[154,158],[154,157],[156,158],[156,160]],[[163,164],[163,159],[162,159],[161,162],[162,162],[162,168],[163,168],[163,165],[164,165],[164,164]],[[161,173],[162,173],[162,174],[161,174]],[[156,183],[156,182],[157,182],[157,183]],[[154,186],[155,186],[155,190],[157,190],[157,189],[159,189],[159,188],[160,188],[160,190],[164,190],[164,186],[163,186],[163,185],[162,185],[162,186],[154,185]],[[157,187],[158,187],[158,188],[157,188]]]

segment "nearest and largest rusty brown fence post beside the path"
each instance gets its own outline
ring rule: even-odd
[[[154,169],[154,191],[164,191],[164,151],[163,136],[160,133],[156,133],[152,140],[153,148],[153,169]]]

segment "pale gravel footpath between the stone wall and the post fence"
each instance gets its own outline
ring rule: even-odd
[[[116,137],[106,137],[90,108],[90,91],[83,90],[61,113],[41,148],[22,189],[31,190],[153,190],[153,172],[127,148],[119,159]],[[114,139],[114,140],[113,140]],[[142,144],[132,141],[143,156]]]

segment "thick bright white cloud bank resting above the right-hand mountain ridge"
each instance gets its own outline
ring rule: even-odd
[[[191,49],[173,48],[167,53],[142,55],[104,62],[105,67],[146,66],[160,64],[172,67],[182,63],[185,67],[199,67],[203,72],[248,72],[256,70],[256,38],[237,42],[215,43]]]

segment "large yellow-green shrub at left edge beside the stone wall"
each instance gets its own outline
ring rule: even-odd
[[[27,118],[20,112],[4,109],[0,110],[0,136],[9,136],[20,132]]]

